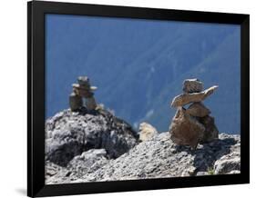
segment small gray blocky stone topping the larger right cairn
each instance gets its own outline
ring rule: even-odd
[[[199,79],[186,79],[183,82],[183,92],[186,94],[199,93],[203,89],[203,84]]]

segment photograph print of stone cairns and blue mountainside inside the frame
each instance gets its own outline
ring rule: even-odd
[[[46,184],[241,173],[241,25],[45,15]]]

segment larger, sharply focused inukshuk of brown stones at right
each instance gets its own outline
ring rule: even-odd
[[[210,116],[210,110],[202,101],[212,94],[218,86],[211,86],[203,91],[203,84],[198,79],[183,82],[183,94],[174,97],[171,106],[178,110],[169,127],[170,138],[175,144],[197,145],[218,139],[219,131]],[[184,105],[190,104],[186,109]]]

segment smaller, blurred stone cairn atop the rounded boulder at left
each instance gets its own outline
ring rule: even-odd
[[[91,86],[87,76],[79,76],[78,84],[72,84],[73,92],[69,95],[69,106],[72,112],[78,111],[83,107],[83,98],[86,100],[87,111],[93,111],[97,108],[93,91],[97,90],[96,86]]]

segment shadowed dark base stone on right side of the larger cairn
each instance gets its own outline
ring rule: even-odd
[[[200,118],[200,123],[204,125],[205,131],[200,140],[200,144],[210,143],[218,139],[219,131],[214,123],[214,118],[210,115]]]

